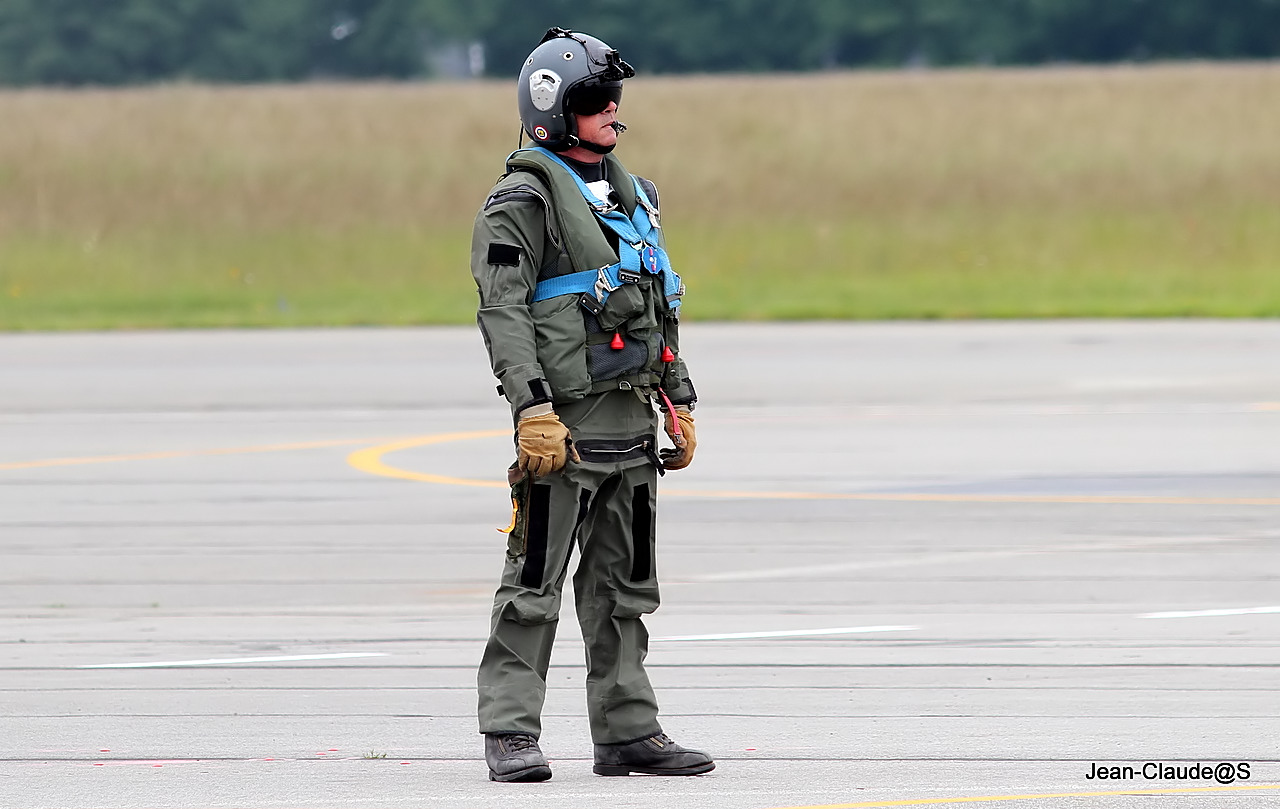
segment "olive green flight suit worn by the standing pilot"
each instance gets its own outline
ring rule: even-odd
[[[561,591],[576,549],[591,737],[632,741],[662,731],[641,622],[659,602],[652,394],[660,385],[689,406],[696,396],[660,278],[623,284],[603,307],[580,294],[530,303],[540,279],[618,259],[564,169],[521,156],[509,159],[509,173],[476,216],[477,321],[513,419],[552,403],[582,460],[513,485],[517,515],[477,675],[480,732],[540,735]],[[607,178],[634,211],[630,175],[614,156],[605,161]],[[655,189],[646,196],[657,205]],[[617,340],[623,348],[611,347]]]

